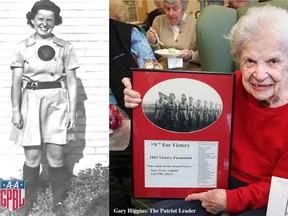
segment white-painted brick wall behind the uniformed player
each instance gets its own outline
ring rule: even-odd
[[[53,33],[70,41],[80,68],[78,76],[78,118],[75,142],[66,148],[66,160],[77,173],[108,165],[108,1],[55,0],[61,8],[63,23]],[[32,0],[0,0],[0,179],[19,177],[24,161],[22,147],[10,141],[11,124],[11,52],[19,41],[32,33],[25,14]]]

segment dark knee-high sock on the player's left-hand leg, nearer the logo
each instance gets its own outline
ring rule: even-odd
[[[37,201],[37,187],[39,180],[38,167],[29,167],[24,163],[23,166],[23,179],[25,180],[25,200],[27,203],[33,204]]]

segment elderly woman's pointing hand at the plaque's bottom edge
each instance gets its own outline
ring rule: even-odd
[[[185,200],[200,200],[202,207],[212,214],[219,214],[227,209],[227,197],[224,189],[214,189],[203,193],[190,194]]]

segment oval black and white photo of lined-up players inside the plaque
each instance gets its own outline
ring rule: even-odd
[[[189,133],[205,129],[221,115],[220,95],[194,79],[169,79],[154,85],[143,97],[143,112],[163,130]]]

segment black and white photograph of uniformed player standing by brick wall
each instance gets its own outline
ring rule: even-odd
[[[0,215],[108,215],[108,2],[0,11]]]

